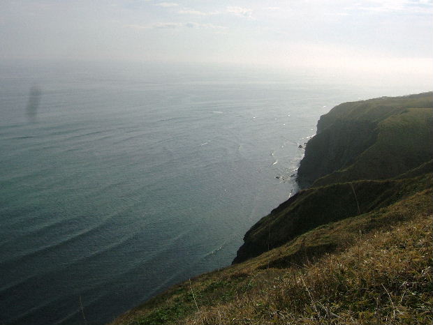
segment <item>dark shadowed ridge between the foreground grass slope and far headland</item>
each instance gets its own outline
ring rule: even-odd
[[[256,257],[314,227],[388,206],[430,188],[432,183],[432,174],[424,174],[412,179],[355,181],[302,190],[249,229],[234,262]]]

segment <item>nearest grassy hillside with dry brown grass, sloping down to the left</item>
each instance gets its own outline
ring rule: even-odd
[[[317,227],[112,324],[430,324],[432,194]]]

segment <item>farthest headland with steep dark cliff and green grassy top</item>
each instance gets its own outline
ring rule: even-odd
[[[387,179],[430,160],[432,107],[432,92],[334,107],[321,116],[306,146],[300,188]]]

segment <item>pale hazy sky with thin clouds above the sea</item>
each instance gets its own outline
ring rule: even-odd
[[[1,0],[15,58],[433,72],[433,0]]]

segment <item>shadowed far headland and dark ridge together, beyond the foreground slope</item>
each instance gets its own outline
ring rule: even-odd
[[[422,93],[344,103],[322,116],[298,171],[300,187],[311,188],[251,227],[233,263],[430,186],[431,177],[414,179],[416,172],[392,178],[431,171],[431,162],[416,168],[433,159],[432,107],[433,93]]]

